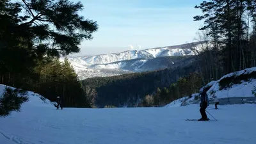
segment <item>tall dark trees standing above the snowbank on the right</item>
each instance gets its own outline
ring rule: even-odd
[[[196,40],[207,42],[202,43],[206,54],[198,57],[205,84],[209,79],[256,66],[255,0],[204,1],[195,8],[203,15],[194,20],[204,20]]]

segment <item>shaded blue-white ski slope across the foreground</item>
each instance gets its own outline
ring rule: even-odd
[[[255,104],[207,109],[218,121],[187,122],[200,118],[198,105],[56,110],[31,93],[20,113],[0,118],[1,144],[256,143]]]

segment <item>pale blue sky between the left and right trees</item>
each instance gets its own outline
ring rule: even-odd
[[[77,1],[77,0],[76,0]],[[86,19],[99,24],[75,55],[105,54],[193,42],[203,22],[193,21],[202,0],[82,0]]]

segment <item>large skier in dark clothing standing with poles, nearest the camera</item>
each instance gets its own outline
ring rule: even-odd
[[[207,108],[207,106],[209,106],[209,99],[208,99],[208,96],[207,96],[204,88],[201,91],[200,95],[201,95],[200,113],[202,115],[202,118],[200,118],[198,121],[209,120],[209,118],[207,117],[207,115],[205,113],[205,109]]]

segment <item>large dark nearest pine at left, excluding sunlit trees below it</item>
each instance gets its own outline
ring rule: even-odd
[[[79,52],[82,40],[92,40],[97,22],[84,20],[77,15],[79,10],[83,10],[81,2],[67,0],[0,1],[1,83],[28,87],[36,61],[45,55]]]

